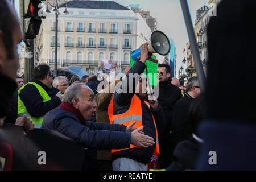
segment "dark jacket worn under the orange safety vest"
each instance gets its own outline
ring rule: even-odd
[[[118,93],[117,90],[115,91],[114,95],[114,111],[113,114],[122,114],[125,113],[131,104],[131,99],[134,96],[135,93],[135,87],[137,85],[137,82],[135,82],[135,79],[133,80],[133,93],[128,93],[129,91],[129,74],[130,73],[138,73],[139,75],[143,73],[144,69],[146,68],[145,64],[141,61],[135,61],[134,65],[131,67],[129,72],[126,74],[126,82],[125,80],[122,82],[120,89],[127,89],[127,93]],[[126,84],[124,84],[126,83]],[[137,94],[139,97],[139,95]],[[140,98],[140,97],[139,97]],[[148,106],[144,103],[144,100],[141,99],[141,105],[142,105],[142,125],[144,126],[143,132],[145,135],[148,135],[152,138],[156,138],[156,131],[155,131],[155,125],[152,118],[152,115],[150,113],[150,110],[148,109]],[[156,127],[158,130],[162,130],[164,127],[164,115],[163,110],[160,105],[158,105],[158,109],[152,110],[152,114],[154,115]],[[127,147],[129,148],[129,147]],[[121,150],[118,152],[114,152],[112,154],[112,160],[125,157],[137,160],[138,162],[147,164],[150,162],[151,156],[153,154],[155,145],[150,146],[148,148],[131,148],[129,150]]]

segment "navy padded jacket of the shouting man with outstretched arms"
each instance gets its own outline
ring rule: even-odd
[[[59,131],[89,149],[127,148],[131,142],[124,125],[86,121],[84,126],[75,114],[60,107],[45,115],[42,128]]]

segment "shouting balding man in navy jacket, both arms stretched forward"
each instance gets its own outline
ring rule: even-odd
[[[59,131],[82,146],[94,149],[152,146],[153,138],[141,134],[143,126],[110,125],[89,121],[96,111],[92,89],[84,84],[74,84],[65,91],[63,103],[49,111],[44,117],[42,128]],[[90,169],[90,159],[85,157],[85,168]]]

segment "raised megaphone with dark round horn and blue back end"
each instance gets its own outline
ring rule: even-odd
[[[150,38],[150,44],[147,46],[149,53],[159,53],[159,55],[168,55],[171,49],[171,44],[167,36],[159,31],[156,30],[152,32],[151,38]],[[135,49],[131,52],[131,57],[134,61],[138,61],[141,59],[141,49]],[[150,61],[153,61],[157,63],[156,59],[150,59]]]

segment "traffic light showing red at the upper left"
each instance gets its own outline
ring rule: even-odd
[[[42,7],[42,1],[30,0],[27,13],[24,15],[24,18],[30,18],[30,23],[25,33],[25,39],[35,39],[36,35],[38,35],[42,23],[41,19],[46,18],[46,14],[42,13]]]

